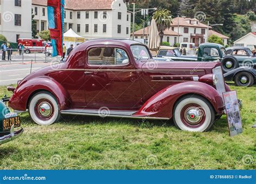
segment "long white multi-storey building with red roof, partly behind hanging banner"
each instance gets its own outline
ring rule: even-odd
[[[47,0],[32,0],[37,31],[48,30]],[[66,0],[64,31],[86,39],[130,38],[131,15],[123,0]]]

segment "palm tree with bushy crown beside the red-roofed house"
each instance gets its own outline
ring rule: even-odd
[[[171,12],[167,9],[158,9],[153,14],[153,19],[156,20],[157,28],[160,36],[160,44],[163,43],[164,31],[170,29],[172,24]]]

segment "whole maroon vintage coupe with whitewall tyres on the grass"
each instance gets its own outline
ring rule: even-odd
[[[171,119],[187,131],[207,131],[223,115],[226,86],[220,62],[153,61],[136,41],[97,39],[77,46],[64,63],[18,82],[12,109],[39,125],[61,114]]]

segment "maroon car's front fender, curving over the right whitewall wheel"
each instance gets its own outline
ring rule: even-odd
[[[224,104],[216,89],[202,82],[183,82],[160,90],[147,100],[133,116],[172,118],[175,102],[181,96],[188,94],[205,97],[217,114],[223,114]]]

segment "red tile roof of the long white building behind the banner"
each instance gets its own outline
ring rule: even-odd
[[[66,0],[65,9],[69,10],[111,10],[113,0]],[[47,6],[47,0],[32,0],[32,4]]]

